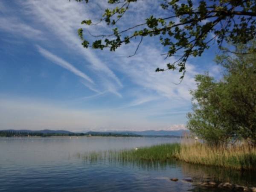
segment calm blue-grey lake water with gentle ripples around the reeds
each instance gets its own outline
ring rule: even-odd
[[[0,191],[207,191],[197,181],[215,180],[256,186],[256,174],[169,162],[84,160],[90,151],[119,150],[175,143],[174,138],[23,137],[0,138]],[[177,177],[177,182],[170,178]],[[184,182],[192,179],[194,182]],[[223,190],[225,191],[225,190]]]

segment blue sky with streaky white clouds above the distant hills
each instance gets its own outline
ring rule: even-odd
[[[87,39],[109,34],[104,23],[88,27],[84,19],[100,19],[105,0],[88,4],[69,0],[0,1],[0,130],[69,131],[178,130],[186,128],[191,111],[189,90],[196,74],[218,77],[212,45],[200,58],[190,58],[180,73],[165,68],[158,38],[139,39],[116,52],[85,49]],[[157,1],[138,1],[118,23],[120,29],[161,14]]]

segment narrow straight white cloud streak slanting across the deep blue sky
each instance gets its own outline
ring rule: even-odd
[[[70,72],[72,72],[75,75],[89,81],[90,83],[94,83],[93,80],[90,77],[85,75],[80,70],[76,69],[76,67],[74,67],[72,64],[68,63],[67,61],[64,61],[62,58],[60,58],[56,55],[53,55],[51,52],[47,51],[46,49],[44,49],[40,46],[37,46],[37,48],[38,48],[38,51],[41,53],[41,55],[43,55],[45,58],[49,59],[53,63],[69,70]]]

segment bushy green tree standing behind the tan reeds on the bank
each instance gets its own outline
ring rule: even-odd
[[[207,73],[195,77],[198,88],[191,91],[193,113],[188,113],[187,126],[209,143],[242,138],[256,145],[255,48],[255,42],[239,45],[236,54],[218,56],[225,69],[221,81]]]

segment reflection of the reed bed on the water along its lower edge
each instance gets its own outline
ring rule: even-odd
[[[201,183],[214,181],[215,183],[232,183],[241,186],[256,186],[256,177],[253,172],[242,172],[232,169],[224,169],[214,166],[202,166],[185,163],[179,160],[170,159],[168,161],[145,161],[126,160],[119,158],[118,151],[98,151],[93,153],[77,153],[76,157],[84,163],[109,163],[119,167],[130,167],[131,169],[143,169],[146,171],[166,171],[168,169],[180,169],[182,172],[179,182],[189,183],[193,186],[192,191],[205,191],[208,188],[202,187]],[[157,179],[170,180],[171,177],[157,177]],[[180,183],[181,184],[181,183]],[[227,191],[227,189],[211,188],[210,191]]]

